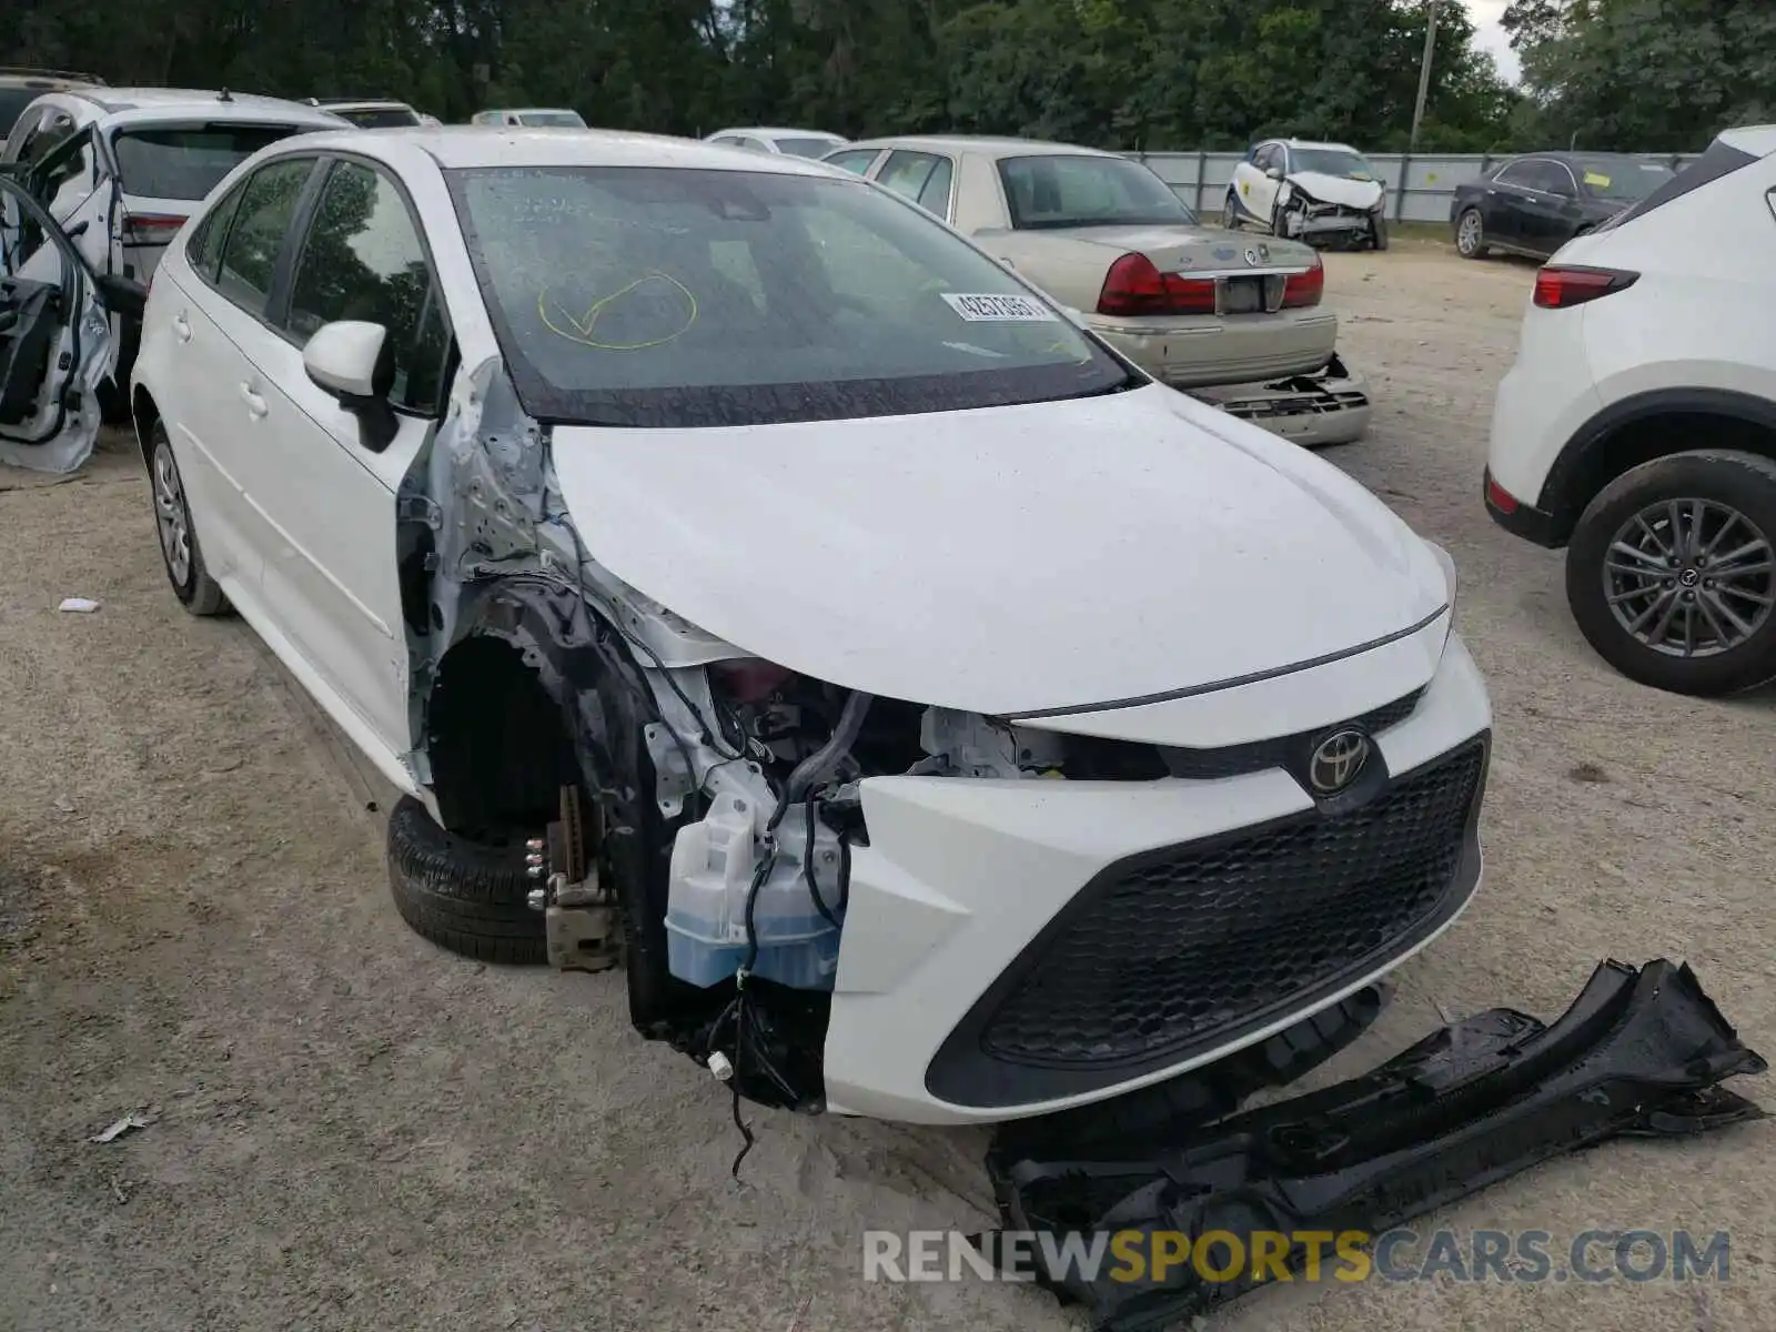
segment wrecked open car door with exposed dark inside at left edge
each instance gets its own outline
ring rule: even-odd
[[[112,314],[146,289],[101,277],[25,185],[0,174],[0,464],[71,472],[99,433]]]

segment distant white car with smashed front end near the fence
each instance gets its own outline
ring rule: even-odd
[[[1268,139],[1233,169],[1222,224],[1387,249],[1387,186],[1350,144]]]

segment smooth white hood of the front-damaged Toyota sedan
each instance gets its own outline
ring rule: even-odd
[[[586,552],[737,648],[968,712],[1302,666],[1435,616],[1387,506],[1172,389],[716,430],[556,426]]]

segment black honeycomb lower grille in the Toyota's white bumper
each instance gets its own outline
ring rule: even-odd
[[[982,1051],[1146,1062],[1355,979],[1446,911],[1485,767],[1476,741],[1350,813],[1124,861],[1019,961]]]

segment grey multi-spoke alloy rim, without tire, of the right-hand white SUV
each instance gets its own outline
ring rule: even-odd
[[[1776,607],[1776,551],[1739,510],[1666,499],[1630,517],[1604,556],[1604,599],[1616,623],[1669,657],[1732,652]]]

